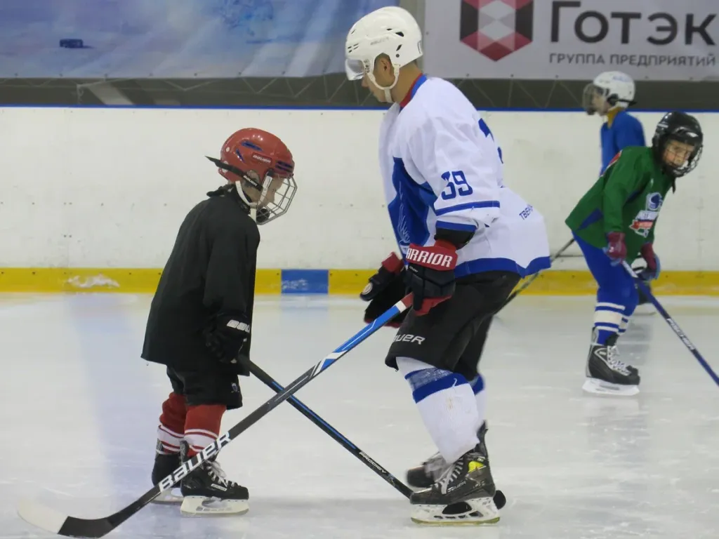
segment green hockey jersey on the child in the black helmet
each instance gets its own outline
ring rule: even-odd
[[[656,219],[673,182],[656,164],[651,148],[625,148],[564,222],[594,247],[606,247],[609,232],[623,232],[631,264],[641,246],[654,241]]]

